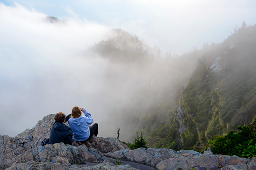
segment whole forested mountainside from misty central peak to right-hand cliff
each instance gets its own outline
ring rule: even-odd
[[[107,113],[103,131],[116,136],[120,128],[119,139],[125,142],[142,131],[149,147],[198,150],[216,134],[251,122],[256,110],[255,33],[256,26],[241,27],[222,44],[206,43],[174,56],[113,30],[91,50],[111,63],[109,80],[132,86],[126,102]]]

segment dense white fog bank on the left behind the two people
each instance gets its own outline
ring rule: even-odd
[[[77,105],[101,117],[108,107],[101,82],[108,62],[81,54],[109,28],[72,20],[52,24],[46,17],[0,4],[1,135],[15,136]]]

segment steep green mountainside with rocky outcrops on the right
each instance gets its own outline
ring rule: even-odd
[[[183,148],[236,130],[256,115],[256,26],[240,28],[198,61],[182,92]],[[188,144],[189,143],[189,144]]]

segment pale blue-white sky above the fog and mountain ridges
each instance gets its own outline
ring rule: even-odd
[[[145,39],[165,52],[182,54],[200,49],[204,43],[221,43],[242,22],[254,25],[253,0],[96,0],[96,1],[10,1],[58,19],[76,19],[123,29]]]

